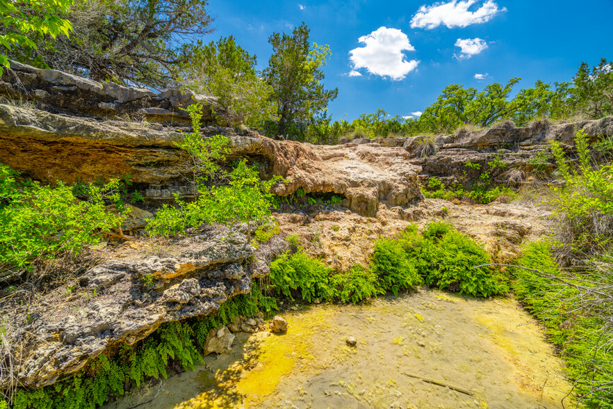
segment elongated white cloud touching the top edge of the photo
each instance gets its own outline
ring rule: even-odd
[[[475,11],[468,10],[476,0],[452,0],[449,3],[434,3],[432,6],[421,6],[411,19],[411,29],[435,29],[441,24],[448,29],[466,27],[471,24],[489,22],[493,16],[506,11],[498,8],[493,0],[487,0]]]

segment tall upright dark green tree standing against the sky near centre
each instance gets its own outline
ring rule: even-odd
[[[322,84],[321,67],[329,57],[327,45],[309,43],[309,29],[304,22],[292,35],[274,33],[268,38],[272,56],[264,77],[272,86],[272,102],[277,106],[279,119],[269,123],[271,136],[304,138],[313,115],[324,111],[328,102],[336,98],[338,88],[326,90]]]

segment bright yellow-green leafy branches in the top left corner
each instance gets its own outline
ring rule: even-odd
[[[70,12],[73,0],[0,0],[0,75],[9,68],[8,57],[28,62],[38,49],[31,37],[49,35],[56,39],[66,37],[72,24],[59,17]]]

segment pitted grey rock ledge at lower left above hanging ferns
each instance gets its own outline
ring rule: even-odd
[[[133,344],[162,323],[217,311],[228,298],[248,293],[252,278],[268,274],[245,261],[252,255],[262,257],[244,232],[212,227],[172,246],[120,246],[70,291],[56,289],[3,316],[15,340],[19,384],[51,385],[117,343]],[[3,377],[0,387],[6,382]]]

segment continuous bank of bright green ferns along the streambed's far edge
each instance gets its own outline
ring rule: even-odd
[[[395,239],[379,239],[370,268],[354,266],[336,272],[302,249],[286,252],[270,264],[272,294],[312,302],[340,300],[357,303],[391,291],[429,284],[470,296],[492,296],[508,291],[502,274],[491,267],[487,252],[446,223],[430,223],[423,234],[416,227]]]

